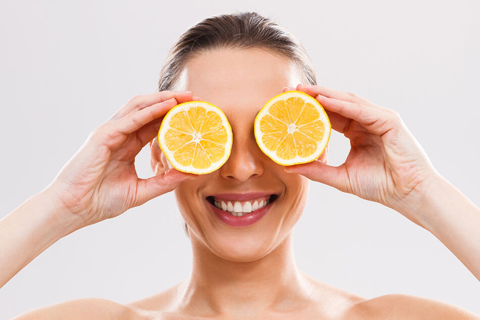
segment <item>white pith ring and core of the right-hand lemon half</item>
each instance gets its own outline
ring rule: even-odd
[[[289,98],[292,98],[292,97],[302,98],[305,101],[305,103],[310,103],[317,108],[318,113],[320,114],[319,120],[321,120],[325,124],[325,133],[324,133],[324,139],[322,140],[321,143],[317,144],[317,149],[312,155],[310,155],[308,157],[300,157],[300,156],[297,155],[296,157],[294,157],[292,159],[286,160],[286,159],[279,158],[276,155],[276,150],[273,150],[273,151],[268,150],[267,147],[265,146],[265,144],[263,143],[263,141],[262,141],[263,132],[260,130],[260,120],[265,115],[269,114],[268,109],[274,103],[276,103],[279,100],[286,100],[286,99],[289,99]],[[294,131],[296,131],[298,129],[295,126],[295,124],[286,124],[286,125],[287,125],[287,132],[289,134],[293,133]],[[255,118],[254,129],[255,129],[255,136],[257,138],[257,144],[258,144],[258,146],[260,147],[260,149],[262,150],[263,153],[265,153],[271,159],[274,159],[274,161],[279,163],[279,164],[293,165],[293,164],[310,162],[312,160],[317,159],[322,154],[323,150],[325,149],[326,145],[328,144],[328,139],[327,138],[329,138],[329,136],[330,136],[331,124],[328,120],[328,117],[327,117],[325,111],[323,110],[320,103],[315,98],[313,98],[313,97],[311,97],[307,94],[303,94],[301,92],[298,92],[298,91],[287,91],[283,94],[280,94],[280,95],[277,95],[277,96],[273,97],[272,99],[270,99],[265,104],[265,106],[260,110],[260,112],[257,114],[257,116]]]

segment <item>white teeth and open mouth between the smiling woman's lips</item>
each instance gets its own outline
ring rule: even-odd
[[[278,198],[277,195],[272,194],[260,198],[236,201],[229,199],[220,199],[213,196],[208,196],[206,199],[216,208],[225,211],[233,216],[243,216],[255,212],[268,204],[272,203]]]

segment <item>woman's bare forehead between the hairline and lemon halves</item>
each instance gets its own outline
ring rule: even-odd
[[[299,82],[290,59],[259,49],[215,49],[188,61],[175,90],[190,90],[229,113],[239,106],[258,111],[282,87]]]

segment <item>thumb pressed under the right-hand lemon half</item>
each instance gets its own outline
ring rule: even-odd
[[[344,164],[334,167],[315,160],[309,163],[285,166],[283,169],[285,172],[302,174],[310,180],[348,192],[348,175]]]

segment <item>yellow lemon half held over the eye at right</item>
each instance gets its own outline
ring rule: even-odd
[[[255,117],[255,140],[281,165],[317,159],[330,139],[331,124],[320,103],[297,90],[270,99]]]

